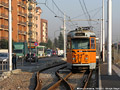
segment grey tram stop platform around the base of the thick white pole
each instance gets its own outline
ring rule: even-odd
[[[108,75],[108,64],[100,64],[99,90],[120,90],[120,67],[112,65],[112,75]]]

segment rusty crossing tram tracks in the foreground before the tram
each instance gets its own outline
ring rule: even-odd
[[[64,63],[64,64],[65,64],[65,63]],[[56,66],[60,66],[60,65],[62,65],[62,64],[55,65],[55,66],[51,66],[51,67],[45,68],[45,69],[40,70],[39,72],[37,72],[37,86],[36,86],[35,90],[41,90],[41,89],[42,89],[42,84],[41,84],[41,83],[42,83],[42,80],[39,78],[39,74],[40,74],[42,71],[44,71],[44,70],[47,70],[47,69],[50,69],[50,68],[53,68],[53,67],[56,67]],[[62,89],[59,88],[59,87],[61,87],[61,84],[63,84],[65,90],[74,90],[74,87],[69,83],[69,80],[68,80],[69,77],[71,77],[72,75],[73,75],[73,77],[74,77],[74,73],[69,72],[69,73],[64,74],[63,76],[61,76],[60,73],[59,73],[59,70],[64,69],[64,68],[66,68],[66,66],[63,66],[62,68],[59,68],[59,69],[55,72],[55,74],[56,74],[56,76],[58,77],[59,80],[58,80],[56,83],[54,83],[53,85],[51,85],[47,90],[62,90]],[[83,86],[80,87],[80,88],[82,88],[83,90],[85,90],[85,89],[87,88],[87,86],[88,86],[89,80],[90,80],[91,75],[92,75],[92,71],[93,71],[93,70],[90,70],[90,71],[88,72],[87,70],[85,70],[85,71],[82,73],[83,76],[80,77],[80,79],[84,77],[84,79],[82,79],[82,81],[81,81],[81,83],[83,83]],[[87,73],[86,73],[86,72],[87,72]],[[78,73],[78,74],[80,74],[80,73]]]

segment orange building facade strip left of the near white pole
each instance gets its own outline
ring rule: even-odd
[[[8,0],[0,0],[0,40],[8,40]]]

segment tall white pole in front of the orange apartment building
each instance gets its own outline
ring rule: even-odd
[[[12,0],[9,0],[9,70],[12,71]]]

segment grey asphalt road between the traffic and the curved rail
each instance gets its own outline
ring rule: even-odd
[[[57,56],[46,57],[39,59],[38,62],[24,61],[23,65],[21,65],[21,61],[18,61],[17,69],[21,69],[22,71],[28,71],[28,72],[36,72],[38,71],[38,69],[43,68],[46,65],[63,61],[62,58],[63,57],[57,57]]]

